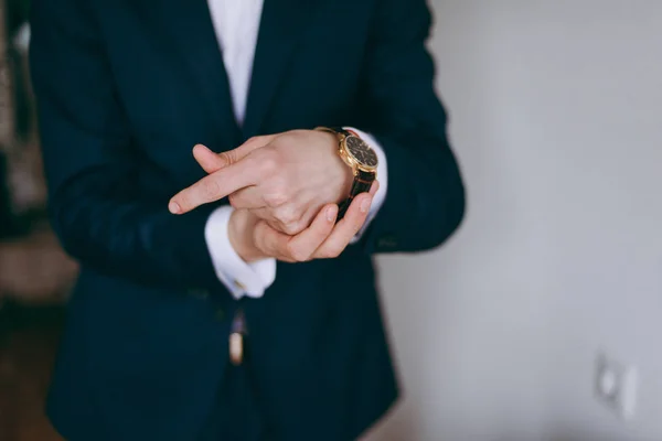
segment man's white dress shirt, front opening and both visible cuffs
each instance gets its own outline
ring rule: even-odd
[[[253,72],[253,60],[259,31],[263,0],[207,0],[223,62],[229,80],[234,115],[241,125],[246,112],[246,99]],[[373,198],[367,220],[354,237],[356,241],[384,203],[387,186],[386,158],[373,137],[356,131],[377,153],[380,190]],[[232,206],[216,208],[205,226],[205,240],[218,279],[239,299],[259,298],[276,280],[276,259],[245,262],[229,243],[227,225]]]

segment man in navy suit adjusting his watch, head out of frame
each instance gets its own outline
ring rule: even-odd
[[[82,262],[47,406],[67,440],[350,440],[385,413],[372,256],[465,209],[429,28],[424,0],[33,2]]]

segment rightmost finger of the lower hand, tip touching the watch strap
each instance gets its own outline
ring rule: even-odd
[[[371,189],[371,193],[373,189]],[[369,193],[361,193],[354,197],[345,216],[335,225],[327,240],[314,251],[314,258],[330,259],[340,256],[365,223],[372,198],[373,195]]]

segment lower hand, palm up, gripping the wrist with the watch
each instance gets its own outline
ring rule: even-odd
[[[229,218],[229,241],[247,262],[271,257],[287,262],[335,258],[363,226],[377,187],[375,182],[370,193],[354,197],[338,224],[338,205],[324,205],[312,224],[295,236],[271,228],[248,209],[237,209]]]

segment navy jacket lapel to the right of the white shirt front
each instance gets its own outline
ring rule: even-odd
[[[264,0],[243,133],[259,135],[316,1]]]

